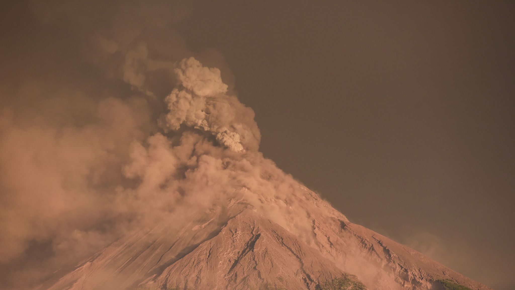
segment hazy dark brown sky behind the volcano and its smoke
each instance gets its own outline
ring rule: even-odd
[[[56,88],[130,95],[100,77],[116,74],[117,60],[92,47],[110,51],[97,35],[144,34],[155,57],[219,67],[255,111],[260,151],[351,221],[515,288],[515,4],[337,3],[197,1],[124,14],[103,2],[18,2],[0,19],[0,106],[49,116],[55,108],[38,102]]]

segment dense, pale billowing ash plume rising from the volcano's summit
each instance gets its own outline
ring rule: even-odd
[[[202,67],[198,60],[188,58],[174,72],[180,87],[166,97],[166,130],[177,131],[185,124],[212,133],[232,151],[258,149],[260,132],[253,111],[227,94],[218,69]]]

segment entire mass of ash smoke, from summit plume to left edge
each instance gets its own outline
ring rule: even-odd
[[[131,230],[234,198],[310,227],[290,198],[298,183],[258,151],[252,109],[186,57],[173,27],[187,8],[35,5],[0,83],[0,288],[31,288]]]

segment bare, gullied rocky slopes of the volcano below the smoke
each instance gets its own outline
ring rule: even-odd
[[[309,210],[309,231],[290,232],[236,202],[186,225],[134,231],[40,289],[415,290],[443,289],[438,281],[446,279],[490,289],[349,222],[303,190],[298,204]]]

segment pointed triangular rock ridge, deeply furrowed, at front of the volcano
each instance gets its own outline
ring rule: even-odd
[[[277,224],[245,211],[160,275],[150,289],[316,289],[343,272]]]

